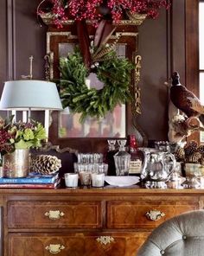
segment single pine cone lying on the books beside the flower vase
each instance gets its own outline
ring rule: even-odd
[[[41,174],[54,174],[61,168],[61,159],[50,155],[31,156],[31,171]]]

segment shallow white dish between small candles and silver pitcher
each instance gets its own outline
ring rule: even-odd
[[[127,187],[139,182],[138,176],[105,176],[105,182],[117,187]]]

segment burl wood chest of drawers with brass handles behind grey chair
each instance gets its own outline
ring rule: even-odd
[[[203,202],[194,189],[1,189],[1,255],[136,256],[153,228]]]

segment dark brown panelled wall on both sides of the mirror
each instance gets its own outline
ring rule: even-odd
[[[0,93],[3,81],[29,74],[29,56],[34,55],[34,77],[44,79],[46,26],[40,26],[35,11],[40,0],[0,2]],[[142,115],[137,118],[150,140],[168,139],[169,94],[164,81],[173,70],[185,82],[185,1],[161,10],[156,20],[146,20],[139,29],[138,53],[142,55]],[[179,14],[179,15],[178,15]]]

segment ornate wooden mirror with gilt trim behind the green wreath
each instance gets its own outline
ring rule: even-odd
[[[90,39],[95,29],[88,25]],[[83,124],[79,122],[77,114],[64,112],[52,113],[52,125],[49,129],[49,138],[53,144],[70,146],[80,151],[101,152],[107,148],[107,138],[126,138],[128,134],[136,134],[137,143],[147,144],[147,138],[137,125],[137,115],[141,113],[140,101],[140,68],[141,56],[137,55],[138,32],[137,26],[120,24],[110,37],[109,43],[114,42],[118,34],[122,34],[116,45],[119,56],[128,58],[135,64],[131,76],[131,94],[133,101],[125,106],[117,106],[106,118],[96,120],[86,118]],[[74,23],[67,24],[63,29],[56,30],[49,26],[47,32],[46,79],[60,78],[59,60],[61,56],[73,52],[78,44]],[[116,118],[117,117],[117,118]],[[75,131],[74,131],[75,130]]]

